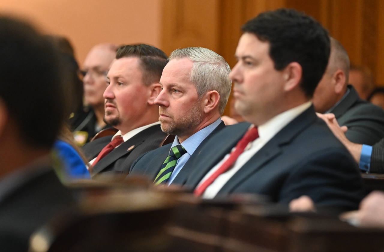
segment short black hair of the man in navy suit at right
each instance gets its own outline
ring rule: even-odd
[[[243,25],[242,31],[270,44],[269,55],[276,70],[298,62],[303,68],[301,88],[308,97],[313,96],[330,53],[328,32],[319,22],[305,13],[283,8],[261,13]]]

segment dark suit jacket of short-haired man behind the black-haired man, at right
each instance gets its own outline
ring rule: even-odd
[[[384,137],[384,110],[359,98],[348,85],[348,95],[332,109],[340,126],[347,126],[346,137],[356,144],[374,145]]]

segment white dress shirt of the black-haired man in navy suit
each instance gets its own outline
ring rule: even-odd
[[[240,170],[245,163],[250,160],[253,155],[255,155],[262,147],[268,143],[281,129],[283,129],[288,123],[295,119],[298,115],[303,113],[307,108],[312,105],[312,102],[303,103],[295,108],[291,108],[283,113],[276,115],[271,118],[268,122],[264,123],[257,127],[259,137],[253,142],[250,142],[245,148],[244,152],[240,154],[237,160],[233,163],[232,168],[228,169],[227,172],[219,175],[217,179],[207,187],[204,194],[202,195],[203,199],[213,199],[217,193],[223,188],[223,186],[232,178],[235,173]],[[232,149],[232,151],[235,148]],[[231,151],[231,152],[232,152]],[[200,181],[199,185],[207,180],[220,166],[229,158],[230,154],[225,155],[225,157],[218,162]]]

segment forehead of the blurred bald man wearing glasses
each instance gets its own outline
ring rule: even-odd
[[[84,60],[84,67],[101,66],[108,68],[111,65],[116,53],[107,48],[93,48]]]

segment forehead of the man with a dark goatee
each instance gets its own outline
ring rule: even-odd
[[[108,77],[122,76],[130,78],[133,75],[141,75],[138,61],[139,58],[137,57],[124,57],[115,60],[108,71]]]

